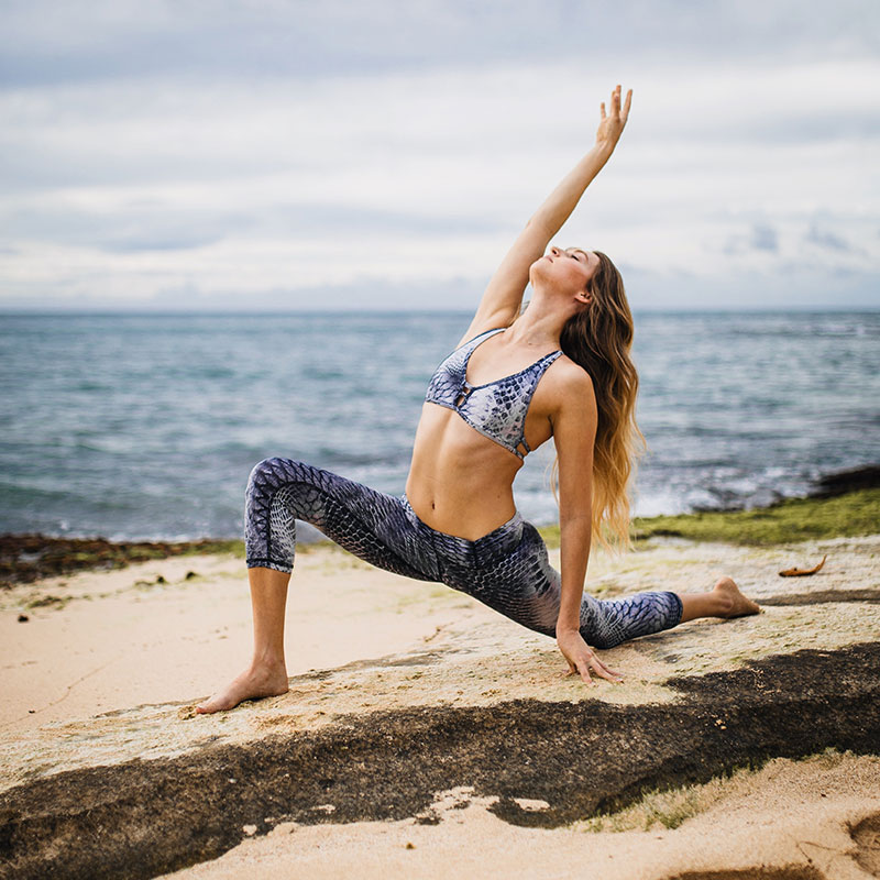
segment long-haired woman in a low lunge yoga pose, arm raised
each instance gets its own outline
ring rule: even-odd
[[[556,636],[568,673],[613,682],[595,649],[696,617],[758,613],[729,578],[707,593],[584,594],[595,536],[628,544],[626,484],[638,377],[623,282],[596,251],[544,250],[626,125],[631,89],[601,107],[593,148],[528,221],[488,284],[459,348],[431,380],[416,431],[406,493],[385,495],[292,459],[251,472],[246,564],[254,616],[251,664],[198,706],[210,713],[285,693],[284,614],[295,519],[383,569],[464,591],[524,626]],[[520,315],[526,284],[534,296]],[[550,437],[559,468],[561,578],[537,530],[516,510],[525,455]]]

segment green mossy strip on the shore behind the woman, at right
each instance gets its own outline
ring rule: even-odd
[[[548,526],[540,532],[548,547],[559,547],[559,526]],[[754,510],[637,517],[631,530],[636,541],[675,537],[757,547],[877,532],[880,488],[834,498],[790,498]]]

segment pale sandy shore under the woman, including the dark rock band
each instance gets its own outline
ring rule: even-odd
[[[813,576],[778,575],[826,553]],[[195,705],[250,651],[241,559],[16,585],[0,594],[9,865],[880,877],[880,536],[652,540],[594,552],[587,588],[701,592],[722,574],[762,613],[603,651],[626,680],[588,688],[552,639],[469,596],[312,549],[288,598],[290,691],[212,716]]]

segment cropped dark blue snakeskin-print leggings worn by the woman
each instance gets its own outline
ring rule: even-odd
[[[380,569],[447,584],[529,629],[556,636],[560,575],[538,530],[519,512],[471,541],[422,522],[406,495],[386,495],[300,461],[272,458],[251,471],[244,516],[249,569],[292,572],[295,520],[301,519]],[[671,592],[615,600],[584,593],[581,635],[593,648],[613,648],[671,629],[681,615],[681,600]]]

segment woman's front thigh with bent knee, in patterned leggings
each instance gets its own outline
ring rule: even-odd
[[[306,462],[274,458],[251,472],[246,505],[264,512],[270,546],[283,542],[284,532],[294,528],[293,520],[301,519],[377,568],[436,580],[430,546],[426,547],[417,524],[394,495]]]

